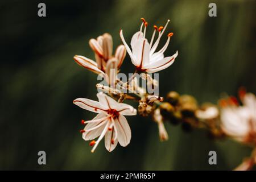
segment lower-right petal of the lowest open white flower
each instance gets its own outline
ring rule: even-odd
[[[126,118],[119,114],[118,118],[115,118],[115,126],[117,127],[118,142],[121,146],[125,147],[131,140],[131,129]]]

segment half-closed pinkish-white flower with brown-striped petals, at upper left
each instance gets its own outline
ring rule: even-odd
[[[97,74],[106,73],[106,67],[108,67],[108,62],[109,60],[113,61],[113,59],[116,62],[116,68],[119,69],[123,63],[123,59],[125,59],[126,56],[126,49],[123,45],[118,46],[115,54],[112,55],[112,36],[107,33],[98,36],[97,39],[90,39],[89,46],[94,51],[96,62],[87,57],[77,55],[75,55],[73,59],[81,67],[89,69],[90,71]]]

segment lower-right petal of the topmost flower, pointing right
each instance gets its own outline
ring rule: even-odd
[[[170,57],[165,57],[164,59],[162,59],[160,61],[156,61],[154,63],[146,65],[145,66],[147,68],[146,72],[154,73],[154,72],[158,72],[158,71],[161,71],[162,69],[170,67],[170,65],[172,65],[172,63],[174,63],[177,55],[178,55],[178,52],[176,52],[174,55],[172,55]]]

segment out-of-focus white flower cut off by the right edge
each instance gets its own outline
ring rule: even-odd
[[[225,102],[221,109],[221,128],[240,142],[256,144],[256,97],[246,93],[241,101],[243,106],[237,106],[234,98]]]

